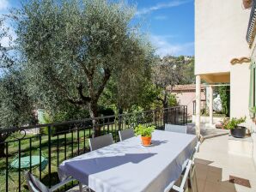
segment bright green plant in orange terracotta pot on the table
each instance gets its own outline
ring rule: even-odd
[[[147,127],[142,124],[137,125],[137,127],[134,129],[135,135],[141,135],[143,146],[151,145],[151,137],[154,130],[155,126]]]

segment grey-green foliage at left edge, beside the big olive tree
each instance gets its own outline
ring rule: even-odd
[[[27,94],[23,71],[9,69],[0,79],[0,128],[34,122],[33,100]]]

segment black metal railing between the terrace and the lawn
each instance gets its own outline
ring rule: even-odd
[[[96,123],[93,124],[93,120]],[[114,141],[119,141],[119,130],[135,127],[139,123],[155,125],[156,129],[163,129],[165,123],[186,124],[187,107],[0,129],[0,135],[9,134],[6,141],[0,142],[5,153],[0,158],[0,191],[26,190],[24,171],[31,171],[41,182],[51,187],[59,182],[58,165],[62,161],[88,153],[88,138],[112,133]],[[34,133],[37,134],[26,135],[28,130],[36,130]],[[74,184],[65,186],[65,189]]]

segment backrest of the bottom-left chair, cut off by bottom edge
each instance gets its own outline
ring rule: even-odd
[[[26,171],[25,177],[30,192],[50,192],[50,189],[48,189],[46,185],[41,183],[40,180],[34,177],[30,172]]]

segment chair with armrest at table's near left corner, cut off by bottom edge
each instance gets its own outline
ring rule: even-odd
[[[71,181],[75,180],[73,178],[68,178],[68,179],[64,180],[63,182],[54,185],[51,189],[48,189],[46,187],[46,185],[41,183],[40,180],[37,179],[36,177],[34,177],[34,175],[31,174],[30,172],[26,171],[25,177],[26,177],[27,186],[28,186],[28,189],[30,192],[52,192],[52,191],[55,191],[55,190],[59,189],[60,187],[64,186],[65,184],[70,183]],[[82,191],[82,189],[80,189],[80,191]]]

